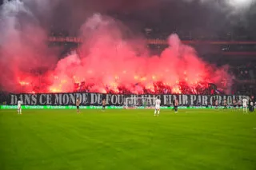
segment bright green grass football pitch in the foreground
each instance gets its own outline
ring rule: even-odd
[[[0,110],[1,170],[255,170],[256,114]]]

